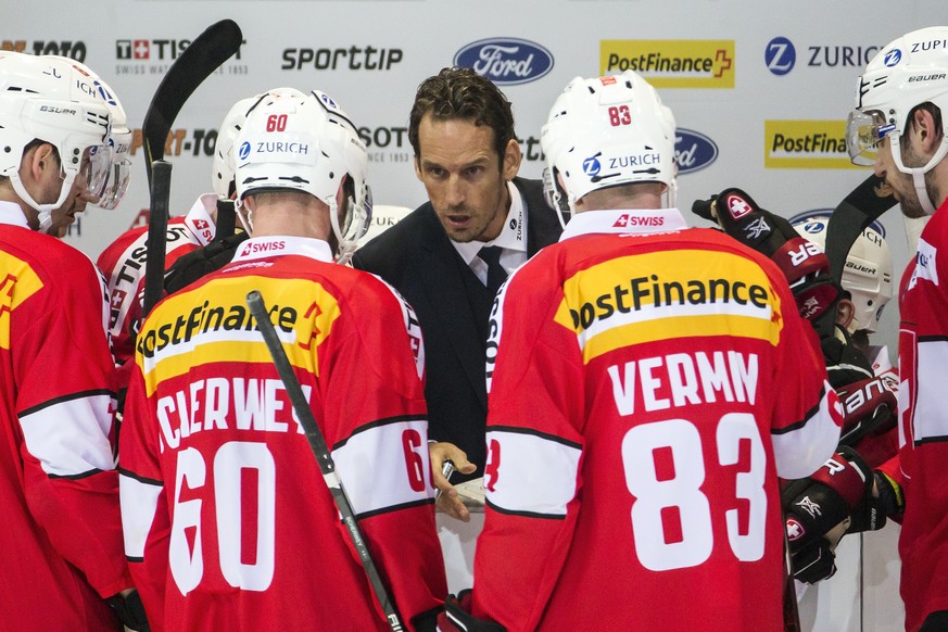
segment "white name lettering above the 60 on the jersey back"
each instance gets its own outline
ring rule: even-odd
[[[302,385],[309,401],[312,387]],[[232,426],[227,421],[231,418]],[[189,437],[210,430],[295,432],[303,434],[282,380],[207,378],[157,401],[159,443],[177,450]]]

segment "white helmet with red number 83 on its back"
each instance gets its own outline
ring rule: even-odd
[[[674,192],[674,116],[639,74],[576,77],[556,99],[540,134],[547,197],[563,211],[596,189],[661,182]],[[563,177],[566,191],[559,186]]]

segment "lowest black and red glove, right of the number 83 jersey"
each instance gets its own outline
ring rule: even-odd
[[[836,572],[833,551],[852,511],[872,495],[872,470],[856,451],[842,446],[812,476],[781,492],[794,577],[816,583]]]

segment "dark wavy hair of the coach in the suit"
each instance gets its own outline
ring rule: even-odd
[[[494,149],[502,165],[507,143],[517,138],[510,102],[490,79],[471,68],[442,68],[418,86],[408,117],[408,141],[415,150],[416,159],[421,155],[418,126],[428,113],[434,121],[462,118],[493,129]]]

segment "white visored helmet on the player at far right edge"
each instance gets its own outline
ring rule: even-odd
[[[893,161],[912,176],[919,201],[931,215],[935,207],[925,192],[924,175],[948,153],[948,134],[923,167],[906,167],[899,143],[909,114],[926,102],[948,116],[948,26],[913,30],[872,58],[856,84],[856,110],[849,114],[846,141],[855,164],[871,165],[880,142],[889,136]]]

